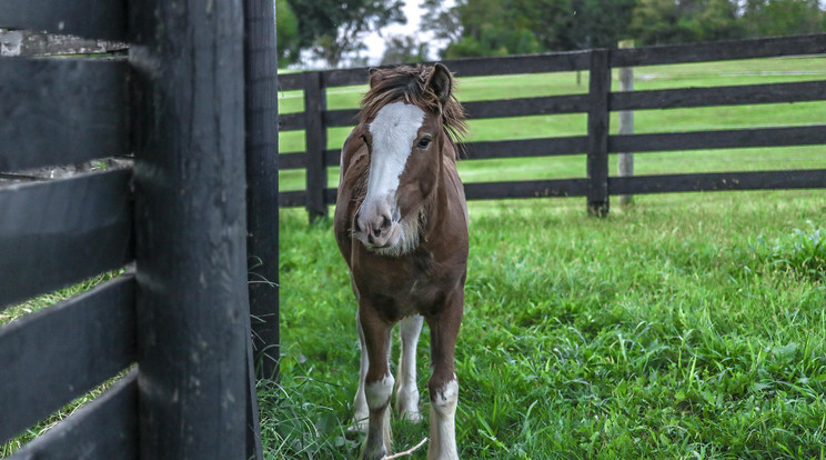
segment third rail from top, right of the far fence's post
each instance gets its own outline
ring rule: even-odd
[[[611,152],[654,152],[820,143],[826,143],[826,124],[611,136],[608,150]]]

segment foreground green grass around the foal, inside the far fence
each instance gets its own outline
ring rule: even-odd
[[[471,203],[462,458],[824,458],[823,216],[822,191],[637,197],[607,219],[578,199]],[[356,458],[346,267],[329,221],[281,219],[268,458]],[[427,352],[425,328],[423,410]],[[426,436],[393,428],[395,450]]]

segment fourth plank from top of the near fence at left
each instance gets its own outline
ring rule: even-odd
[[[0,442],[132,363],[134,321],[125,274],[0,329]]]

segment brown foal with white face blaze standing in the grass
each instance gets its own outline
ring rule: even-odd
[[[333,228],[359,303],[356,429],[362,458],[390,449],[391,331],[400,323],[394,408],[420,421],[416,344],[431,332],[429,460],[459,459],[454,351],[467,276],[467,204],[456,172],[466,133],[455,80],[443,64],[373,69],[344,141]]]

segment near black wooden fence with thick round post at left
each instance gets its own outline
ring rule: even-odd
[[[130,43],[0,58],[0,172],[134,154],[0,187],[0,309],[125,271],[0,328],[0,442],[120,376],[11,458],[262,457],[250,304],[276,346],[273,14],[272,0],[0,0],[2,28]]]

